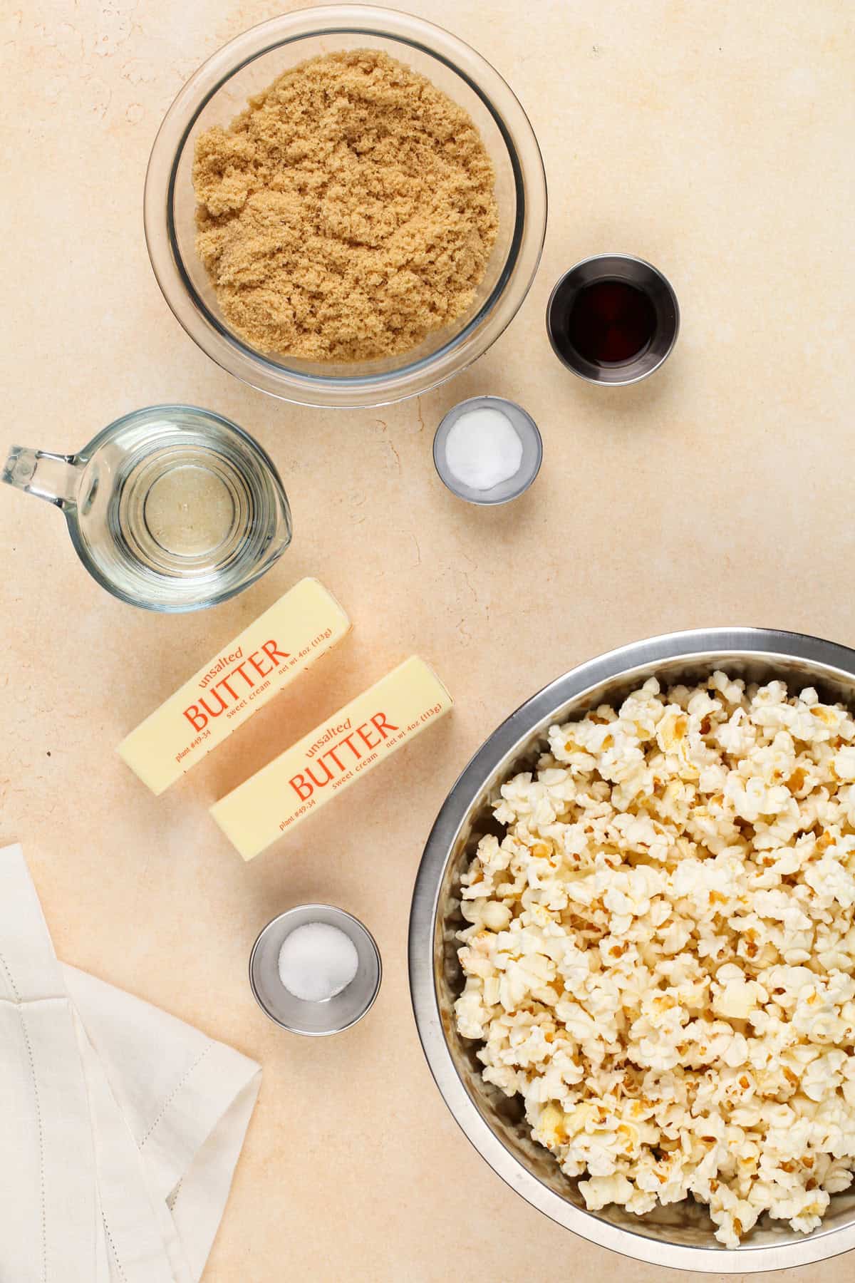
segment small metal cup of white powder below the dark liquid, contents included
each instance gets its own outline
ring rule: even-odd
[[[440,480],[467,503],[510,503],[528,490],[544,458],[537,423],[504,396],[470,396],[433,438]]]

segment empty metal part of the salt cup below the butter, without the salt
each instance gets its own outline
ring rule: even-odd
[[[279,949],[308,922],[326,922],[347,935],[359,955],[356,975],[346,989],[327,1002],[304,1002],[288,993],[279,979]],[[282,1029],[309,1038],[340,1034],[370,1011],[383,974],[377,942],[359,919],[335,905],[297,905],[268,922],[250,955],[250,985],[261,1011]]]

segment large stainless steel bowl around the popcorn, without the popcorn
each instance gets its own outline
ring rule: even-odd
[[[623,647],[559,677],[518,708],[476,753],[451,789],[428,838],[410,915],[410,988],[424,1053],[455,1119],[490,1166],[552,1220],[602,1247],[677,1269],[749,1274],[826,1260],[855,1247],[855,1191],[836,1194],[813,1234],[761,1220],[736,1250],[713,1237],[706,1209],[692,1201],[643,1218],[620,1207],[586,1210],[574,1180],[526,1128],[522,1105],[485,1084],[477,1043],[454,1026],[452,1003],[463,987],[455,931],[459,876],[478,838],[499,831],[491,803],[499,785],[532,765],[546,729],[599,703],[619,702],[649,676],[693,681],[715,667],[735,676],[817,686],[826,698],[855,707],[855,652],[817,638],[768,629],[676,633]]]

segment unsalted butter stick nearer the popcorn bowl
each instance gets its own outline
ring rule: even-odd
[[[244,860],[447,713],[454,701],[424,659],[413,656],[274,757],[212,808]]]

